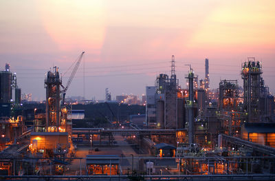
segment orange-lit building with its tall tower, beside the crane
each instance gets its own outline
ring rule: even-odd
[[[72,123],[67,120],[67,108],[61,105],[61,77],[58,68],[45,77],[46,114],[38,114],[30,134],[29,149],[43,156],[66,156],[72,152]]]

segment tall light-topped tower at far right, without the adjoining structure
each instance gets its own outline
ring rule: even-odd
[[[248,122],[260,121],[259,98],[261,96],[262,66],[254,57],[248,57],[243,63],[241,78],[243,79],[243,103],[248,113]]]

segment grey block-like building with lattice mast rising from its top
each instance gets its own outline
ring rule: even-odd
[[[146,87],[146,123],[159,129],[184,128],[184,96],[175,75],[172,56],[171,75],[159,74],[155,86]]]

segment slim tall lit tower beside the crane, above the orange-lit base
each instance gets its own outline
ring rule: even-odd
[[[58,68],[54,67],[53,72],[48,71],[45,77],[46,88],[46,131],[58,132],[61,115],[61,78]]]

